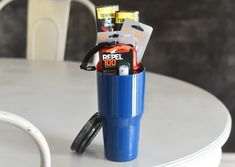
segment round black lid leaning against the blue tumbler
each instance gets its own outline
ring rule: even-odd
[[[100,114],[95,113],[83,126],[71,145],[71,149],[82,154],[102,127]]]

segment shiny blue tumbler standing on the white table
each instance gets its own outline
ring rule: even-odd
[[[133,160],[138,154],[144,111],[145,70],[126,76],[97,72],[97,85],[105,157],[118,162]]]

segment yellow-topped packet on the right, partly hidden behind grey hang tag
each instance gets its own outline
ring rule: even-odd
[[[125,19],[139,21],[138,11],[118,11],[115,18],[115,31],[120,31]]]

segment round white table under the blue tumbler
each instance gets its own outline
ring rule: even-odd
[[[97,112],[96,73],[75,62],[0,59],[0,110],[18,114],[45,135],[53,167],[216,167],[231,117],[213,95],[186,82],[147,73],[139,155],[126,163],[104,158],[102,131],[82,156],[70,145]],[[0,164],[39,166],[34,142],[0,123]]]

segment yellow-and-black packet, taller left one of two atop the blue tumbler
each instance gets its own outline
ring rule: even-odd
[[[114,31],[115,13],[119,10],[119,5],[108,5],[96,7],[97,31]]]

